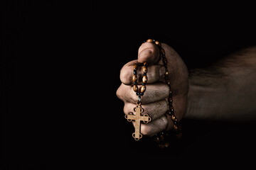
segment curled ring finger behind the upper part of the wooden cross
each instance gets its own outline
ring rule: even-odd
[[[125,103],[124,104],[124,113],[128,114],[130,112],[133,112],[133,109],[136,106],[137,105],[134,103]],[[167,105],[166,100],[149,103],[149,104],[143,105],[142,107],[144,108],[144,112],[142,113],[142,115],[148,114],[152,118],[152,120],[156,120],[156,119],[160,118],[161,115],[164,115],[166,113],[166,111],[168,110],[168,105]]]

